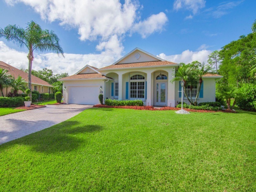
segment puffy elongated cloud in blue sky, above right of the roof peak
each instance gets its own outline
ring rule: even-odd
[[[144,21],[136,23],[132,29],[131,33],[137,32],[142,36],[142,38],[148,37],[150,34],[162,31],[164,24],[168,21],[165,13],[160,12],[157,15],[151,15]]]

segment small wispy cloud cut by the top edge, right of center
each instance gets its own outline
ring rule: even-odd
[[[173,9],[187,9],[196,14],[199,9],[205,7],[205,0],[175,0],[173,3]]]

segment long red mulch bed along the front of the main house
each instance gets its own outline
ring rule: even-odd
[[[154,108],[153,106],[108,106],[108,105],[101,105],[97,104],[93,107],[98,108],[122,108],[122,109],[137,109],[137,110],[151,110],[151,111],[167,111],[167,110],[175,110],[178,111],[181,108],[176,107],[162,107],[162,108]],[[209,111],[209,110],[195,110],[195,109],[185,109],[186,111],[190,112],[208,112],[208,113],[215,113],[216,111]]]

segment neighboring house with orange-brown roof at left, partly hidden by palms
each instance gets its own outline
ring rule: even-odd
[[[10,73],[14,78],[16,79],[19,75],[25,79],[27,86],[28,86],[28,73],[17,69],[11,65],[8,65],[5,62],[0,61],[0,68],[7,69],[8,73]],[[41,80],[40,78],[32,75],[31,76],[32,81],[32,90],[31,91],[39,91],[39,93],[53,93],[52,92],[52,85],[48,84],[46,81]],[[5,88],[3,90],[4,96],[6,97],[8,93],[11,91],[11,87]],[[22,91],[19,91],[19,93],[22,93]]]

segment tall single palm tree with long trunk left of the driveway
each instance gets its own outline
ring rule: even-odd
[[[64,57],[64,52],[59,44],[59,37],[54,31],[42,28],[33,20],[27,23],[26,28],[16,25],[7,25],[4,29],[0,29],[0,38],[3,37],[7,41],[12,41],[20,48],[28,49],[28,88],[31,90],[31,70],[34,59],[34,51],[55,52]],[[32,98],[32,94],[29,94]],[[31,100],[31,99],[30,99]]]

